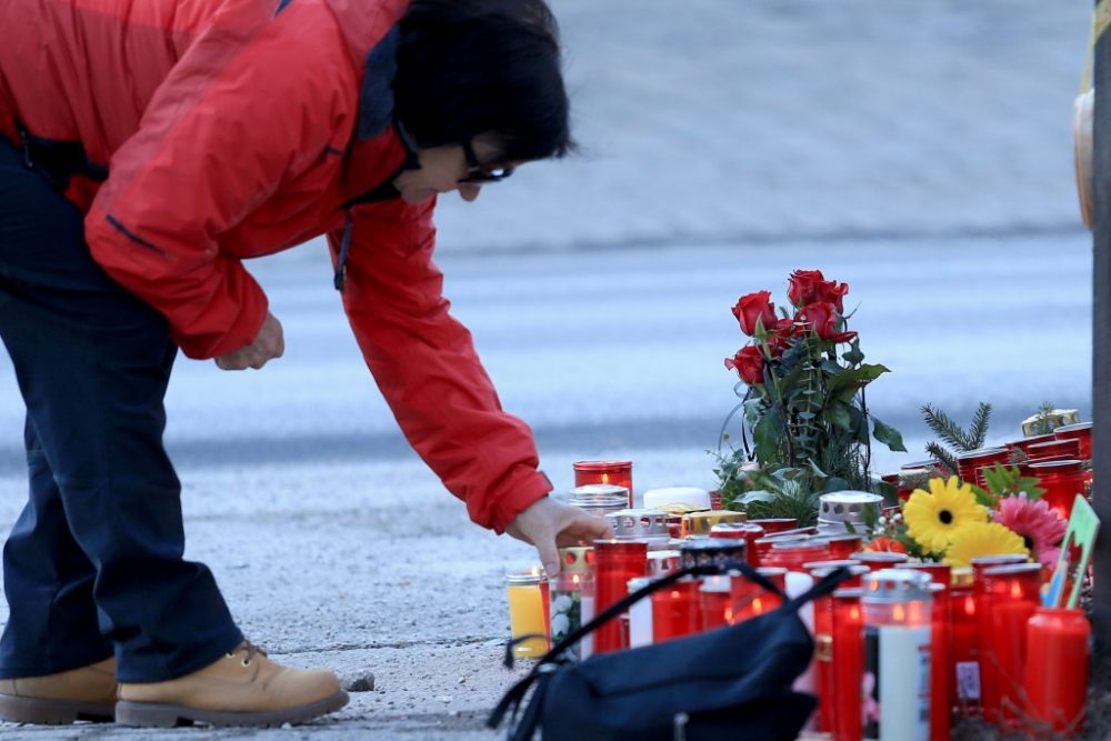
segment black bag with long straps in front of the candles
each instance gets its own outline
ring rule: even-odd
[[[664,643],[581,662],[568,658],[569,647],[652,592],[687,575],[727,570],[740,571],[780,594],[783,605],[735,625]],[[677,571],[617,602],[552,648],[510,688],[487,725],[498,728],[512,711],[511,741],[528,741],[538,728],[543,741],[793,741],[818,704],[813,695],[791,689],[814,653],[798,611],[830,594],[848,577],[848,569],[838,569],[804,594],[788,599],[748,564]],[[518,641],[507,648],[510,667]]]

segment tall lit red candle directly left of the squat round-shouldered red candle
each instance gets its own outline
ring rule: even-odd
[[[980,657],[984,682],[983,714],[1007,730],[1018,730],[1023,708],[1022,682],[1027,660],[1027,623],[1041,602],[1041,565],[1017,563],[987,569],[983,593],[989,631],[987,655]]]

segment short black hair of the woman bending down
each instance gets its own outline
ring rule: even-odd
[[[420,147],[492,132],[506,161],[574,148],[559,27],[544,0],[413,0],[393,93]]]

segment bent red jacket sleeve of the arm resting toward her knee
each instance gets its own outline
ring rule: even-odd
[[[253,2],[228,7],[158,88],[86,218],[97,262],[166,316],[191,358],[257,337],[267,298],[221,254],[220,236],[283,179],[341,153],[358,94],[330,16],[298,3],[278,19],[236,10]]]

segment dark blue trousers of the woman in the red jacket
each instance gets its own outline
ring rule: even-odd
[[[121,681],[179,677],[242,640],[182,559],[162,447],[177,347],[93,262],[79,209],[0,139],[0,337],[27,404],[30,498],[3,547],[0,678],[114,653]]]

